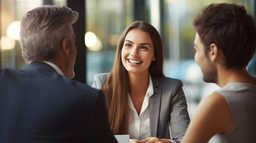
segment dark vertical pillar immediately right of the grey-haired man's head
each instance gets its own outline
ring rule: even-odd
[[[79,18],[73,24],[76,36],[77,60],[75,62],[75,80],[86,83],[86,45],[84,34],[86,32],[86,0],[67,0],[67,7],[79,13]]]

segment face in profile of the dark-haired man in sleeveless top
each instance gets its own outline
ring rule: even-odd
[[[198,33],[196,33],[196,38],[194,39],[194,49],[196,49],[194,60],[202,70],[203,81],[217,83],[217,70],[214,63],[212,63],[209,56],[205,53],[205,46],[201,42]]]

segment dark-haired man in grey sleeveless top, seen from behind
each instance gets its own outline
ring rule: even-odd
[[[182,142],[255,142],[256,78],[246,70],[256,25],[243,6],[212,4],[194,20],[195,60],[221,87],[200,102]]]

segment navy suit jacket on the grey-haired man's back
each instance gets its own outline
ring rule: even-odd
[[[0,142],[117,142],[102,91],[48,64],[0,72]]]

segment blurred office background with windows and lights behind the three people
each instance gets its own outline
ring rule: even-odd
[[[95,74],[112,69],[117,42],[126,26],[135,20],[148,21],[163,39],[164,74],[184,83],[192,118],[200,100],[219,88],[203,82],[194,62],[193,20],[203,7],[220,2],[244,5],[255,17],[254,0],[0,0],[0,69],[19,70],[25,66],[19,24],[26,12],[44,4],[66,5],[80,13],[78,23],[74,24],[78,49],[75,79],[88,85],[92,85]],[[248,66],[254,76],[255,58]]]

